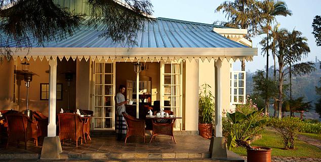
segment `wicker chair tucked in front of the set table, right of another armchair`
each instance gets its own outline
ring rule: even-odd
[[[164,110],[164,112],[169,113],[169,115],[173,115],[174,112],[170,111],[170,110]],[[163,120],[163,119],[162,119]],[[165,122],[159,123],[157,122],[157,120],[152,120],[153,123],[153,132],[152,132],[152,136],[150,137],[150,141],[151,142],[152,138],[157,136],[157,135],[169,135],[171,136],[171,139],[173,137],[174,142],[176,143],[175,137],[174,137],[174,123],[175,123],[175,119],[164,119],[166,120]]]

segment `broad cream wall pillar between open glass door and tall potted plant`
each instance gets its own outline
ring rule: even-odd
[[[199,71],[198,61],[186,60],[185,83],[185,130],[198,131],[198,90]]]

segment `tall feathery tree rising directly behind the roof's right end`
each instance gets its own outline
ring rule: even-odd
[[[257,0],[225,1],[216,8],[216,12],[223,11],[228,19],[226,26],[248,29],[246,38],[251,38],[260,31],[262,18]],[[245,71],[245,60],[242,61],[242,71]]]

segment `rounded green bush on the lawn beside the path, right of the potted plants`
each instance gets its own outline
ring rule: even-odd
[[[272,126],[281,134],[285,149],[294,149],[296,136],[301,129],[302,121],[297,117],[274,118]]]

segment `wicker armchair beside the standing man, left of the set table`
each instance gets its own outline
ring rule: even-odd
[[[135,118],[125,112],[123,112],[123,116],[127,125],[125,143],[127,138],[134,135],[143,137],[143,143],[145,143],[145,120]]]

